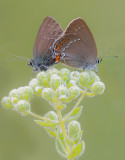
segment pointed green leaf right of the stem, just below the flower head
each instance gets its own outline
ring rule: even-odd
[[[83,106],[77,107],[71,114],[68,113],[64,116],[65,121],[72,121],[78,119],[80,114],[82,113]]]

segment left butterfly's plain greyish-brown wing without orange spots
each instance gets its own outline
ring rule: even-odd
[[[33,56],[40,57],[46,55],[51,50],[54,42],[63,33],[61,26],[52,17],[46,17],[41,24],[36,36]]]

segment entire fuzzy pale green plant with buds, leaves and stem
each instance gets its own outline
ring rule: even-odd
[[[83,131],[77,121],[83,109],[79,104],[84,96],[93,97],[102,94],[104,90],[104,83],[92,71],[71,72],[66,68],[52,68],[46,72],[39,72],[28,86],[11,90],[9,96],[3,97],[1,103],[6,109],[37,118],[35,122],[55,138],[58,153],[68,160],[74,160],[85,150]],[[31,112],[30,99],[34,95],[48,101],[54,111],[49,111],[43,117]],[[61,110],[78,97],[73,109],[62,116]]]

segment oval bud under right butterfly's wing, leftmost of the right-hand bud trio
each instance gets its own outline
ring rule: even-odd
[[[83,87],[87,87],[88,84],[90,83],[89,73],[88,72],[80,73],[79,81]]]

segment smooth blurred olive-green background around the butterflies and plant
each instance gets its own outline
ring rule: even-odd
[[[113,45],[104,56],[120,56],[99,65],[104,94],[82,102],[79,121],[86,150],[80,160],[125,160],[125,0],[0,0],[0,99],[31,79],[32,68],[26,61],[12,60],[10,53],[32,58],[38,28],[48,15],[63,29],[72,19],[82,17],[95,37],[98,53]],[[51,109],[43,99],[32,99],[34,112],[43,115]],[[0,160],[8,159],[63,158],[54,140],[32,117],[0,107]]]

